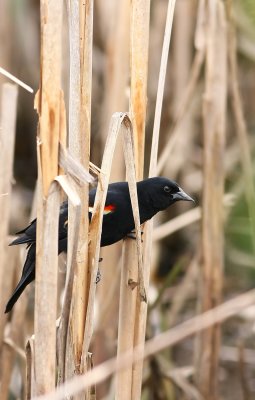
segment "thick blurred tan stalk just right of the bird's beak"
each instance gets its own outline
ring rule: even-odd
[[[227,96],[227,31],[222,1],[206,4],[206,83],[203,104],[204,189],[202,210],[202,311],[221,302],[223,282],[224,147]],[[218,398],[220,325],[197,338],[196,380],[206,399]]]

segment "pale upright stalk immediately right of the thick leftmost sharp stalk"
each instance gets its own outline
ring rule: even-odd
[[[81,120],[80,120],[80,107],[81,107],[81,54],[80,54],[80,2],[79,0],[72,0],[68,3],[68,23],[69,23],[69,48],[70,48],[70,74],[69,74],[69,133],[68,144],[71,156],[81,160],[80,145],[81,143]],[[84,150],[84,147],[83,147]],[[81,193],[80,193],[81,194]],[[82,195],[82,194],[81,194]],[[84,210],[87,206],[87,201],[82,196],[82,208]],[[84,214],[85,216],[85,214]],[[84,218],[84,217],[83,217]],[[77,227],[74,225],[75,210],[71,204],[68,204],[68,253],[71,250],[70,241],[75,236]],[[87,262],[86,262],[86,248],[84,255],[81,254],[81,246],[84,246],[84,240],[87,236],[85,233],[86,226],[79,228],[77,254],[74,260],[75,275],[72,307],[70,313],[69,332],[67,341],[67,355],[65,378],[73,375],[73,371],[79,372],[80,357],[82,348],[82,339],[84,333],[84,323],[86,315],[87,303]],[[88,229],[88,227],[87,227]],[[85,237],[84,237],[85,236]],[[86,242],[85,242],[86,243]],[[72,268],[68,260],[68,269]],[[68,272],[69,273],[69,272]],[[78,274],[81,273],[81,279],[77,279]]]

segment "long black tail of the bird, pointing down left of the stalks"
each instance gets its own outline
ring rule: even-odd
[[[33,243],[28,250],[21,279],[17,287],[15,288],[11,298],[6,304],[5,313],[11,311],[12,307],[18,300],[19,296],[21,295],[25,287],[35,279],[35,250],[36,250],[36,244]]]

